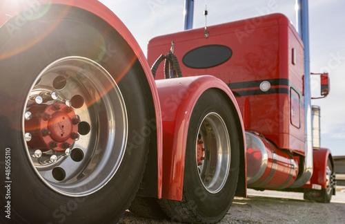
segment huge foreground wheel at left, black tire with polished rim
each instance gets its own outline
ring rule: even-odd
[[[95,15],[37,18],[0,30],[0,223],[116,223],[147,160],[144,71]]]

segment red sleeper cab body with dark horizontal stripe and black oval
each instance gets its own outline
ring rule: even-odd
[[[304,155],[304,46],[290,21],[281,14],[267,15],[210,26],[208,32],[208,38],[204,28],[155,37],[148,44],[148,63],[167,53],[172,41],[180,60],[200,46],[228,46],[233,52],[228,61],[211,68],[190,68],[182,63],[183,75],[206,74],[223,80],[237,98],[246,129],[262,133],[279,149]],[[163,78],[161,66],[156,79]],[[268,91],[260,89],[263,81],[269,82]],[[300,97],[297,108],[297,102],[291,104],[290,88]],[[299,109],[299,127],[290,122],[291,106]]]

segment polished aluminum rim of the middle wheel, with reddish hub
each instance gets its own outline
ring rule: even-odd
[[[197,137],[197,167],[205,189],[216,194],[225,185],[230,169],[230,137],[217,113],[202,120]]]

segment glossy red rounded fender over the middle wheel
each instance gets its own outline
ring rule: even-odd
[[[221,80],[210,75],[157,80],[156,84],[161,102],[164,129],[162,198],[182,200],[184,160],[190,115],[200,95],[208,88],[217,88],[223,91],[228,95],[229,101],[235,105],[237,110],[239,121],[237,125],[241,126],[239,129],[242,130],[243,137],[240,172],[244,171],[240,176],[239,183],[243,183],[242,195],[246,195],[246,143],[244,125],[237,101],[233,93],[231,93],[230,88]]]

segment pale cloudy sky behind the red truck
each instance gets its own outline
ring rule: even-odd
[[[100,0],[126,24],[144,53],[146,44],[158,35],[179,32],[184,27],[184,0]],[[295,25],[295,0],[208,0],[207,24],[246,19],[282,12]],[[194,27],[204,27],[205,0],[195,0]],[[327,71],[331,93],[322,100],[321,145],[334,156],[345,155],[345,1],[309,1],[311,72]],[[319,80],[311,80],[312,95],[319,93]]]

